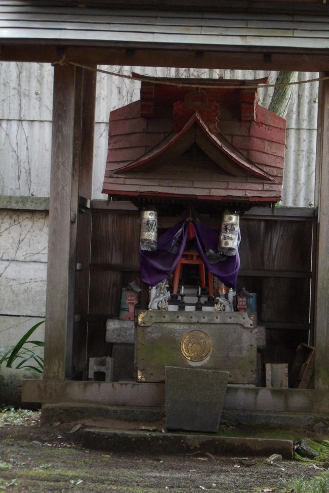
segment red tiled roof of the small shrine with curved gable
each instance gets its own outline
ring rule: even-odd
[[[249,87],[265,81],[143,77],[141,99],[110,113],[103,193],[280,200],[285,120]]]

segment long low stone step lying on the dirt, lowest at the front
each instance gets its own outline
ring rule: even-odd
[[[228,456],[270,456],[293,458],[292,440],[209,436],[184,433],[155,433],[87,428],[83,444],[89,449],[133,454],[193,454],[207,452]]]

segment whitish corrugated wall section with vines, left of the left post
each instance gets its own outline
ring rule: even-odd
[[[0,193],[49,196],[53,68],[0,63]]]

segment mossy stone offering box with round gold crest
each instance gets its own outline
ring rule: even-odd
[[[221,370],[228,383],[256,384],[259,331],[238,312],[139,310],[135,373],[139,382],[162,382],[165,367]]]

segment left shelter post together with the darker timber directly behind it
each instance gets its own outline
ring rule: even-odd
[[[95,101],[96,72],[55,66],[45,380],[86,366],[91,210],[79,195],[91,200]]]

